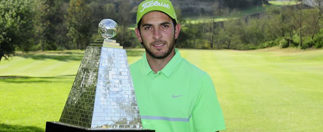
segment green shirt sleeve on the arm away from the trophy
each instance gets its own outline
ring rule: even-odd
[[[223,113],[211,77],[206,73],[202,78],[201,90],[192,112],[197,131],[225,129]]]

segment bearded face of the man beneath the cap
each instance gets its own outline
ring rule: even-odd
[[[174,27],[172,19],[166,14],[150,12],[142,17],[140,32],[136,29],[136,35],[148,55],[155,59],[164,59],[174,52],[174,42],[179,31],[180,25]]]

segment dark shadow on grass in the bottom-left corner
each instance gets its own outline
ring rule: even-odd
[[[24,126],[24,125],[11,125],[11,124],[4,124],[4,123],[0,123],[0,131],[12,131],[12,132],[16,132],[16,131],[45,131],[42,128],[36,127],[36,126]]]

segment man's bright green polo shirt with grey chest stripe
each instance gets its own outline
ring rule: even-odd
[[[210,76],[175,56],[156,74],[146,53],[130,66],[144,128],[161,131],[217,131],[224,118]]]

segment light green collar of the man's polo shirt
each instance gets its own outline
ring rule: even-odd
[[[169,77],[170,74],[176,68],[176,66],[179,64],[179,62],[181,62],[181,60],[182,60],[182,57],[178,49],[175,48],[175,55],[160,72],[162,72],[165,76]],[[145,76],[148,75],[150,72],[154,72],[148,64],[146,52],[143,55],[142,63],[143,63],[143,73]]]

